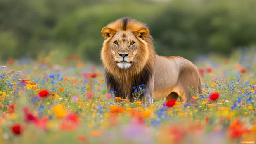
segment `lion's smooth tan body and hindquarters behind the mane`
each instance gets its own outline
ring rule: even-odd
[[[187,102],[191,97],[188,88],[194,87],[201,93],[200,85],[197,67],[192,62],[183,57],[155,56],[154,102],[162,98],[177,99],[178,96]]]

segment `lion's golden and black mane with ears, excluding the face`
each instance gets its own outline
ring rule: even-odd
[[[103,31],[104,29],[104,31]],[[136,38],[141,42],[140,52],[136,56],[136,61],[126,71],[118,68],[113,62],[111,55],[110,40],[118,32],[132,31]],[[155,50],[153,38],[150,33],[144,37],[143,32],[148,31],[146,24],[124,17],[108,24],[102,28],[102,35],[105,38],[101,50],[101,59],[105,68],[106,83],[109,90],[117,90],[116,96],[126,97],[129,95],[130,101],[133,101],[133,87],[145,84],[147,85],[154,73]]]

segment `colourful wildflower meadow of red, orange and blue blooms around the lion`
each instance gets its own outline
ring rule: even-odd
[[[203,94],[149,107],[107,91],[101,65],[54,57],[0,67],[0,144],[256,142],[256,49],[199,57]]]

